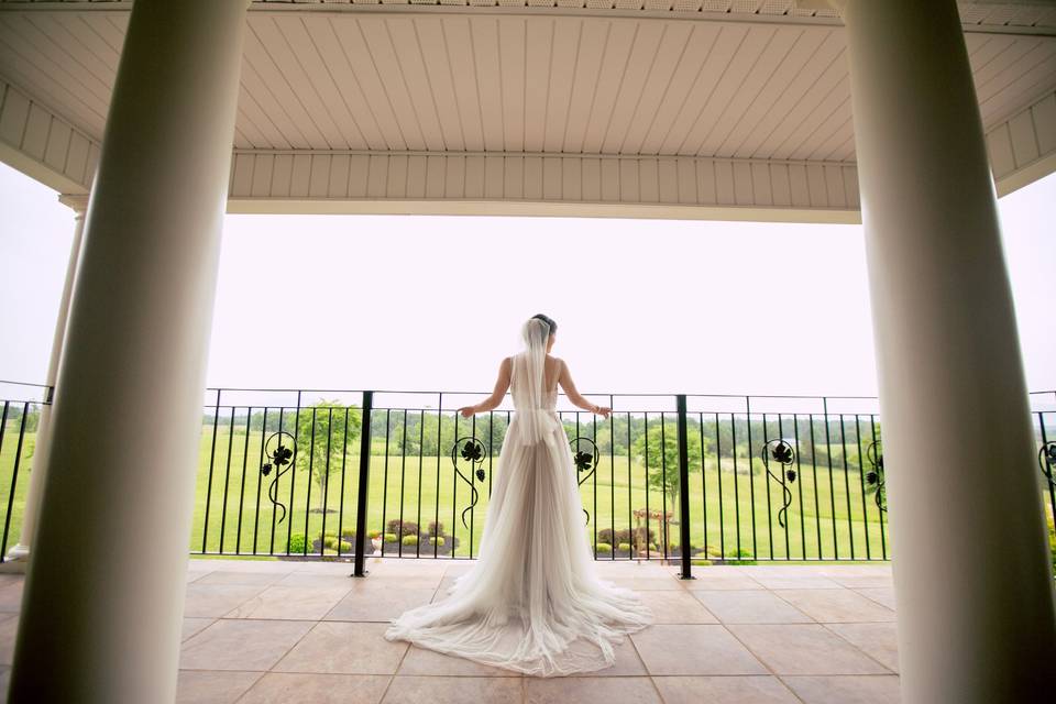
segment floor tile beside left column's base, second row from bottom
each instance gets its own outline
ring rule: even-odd
[[[222,619],[188,639],[184,670],[267,670],[311,628],[305,620]]]

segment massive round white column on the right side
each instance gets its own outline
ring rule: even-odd
[[[1056,701],[1034,439],[957,6],[843,9],[903,701]]]

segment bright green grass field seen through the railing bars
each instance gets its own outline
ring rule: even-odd
[[[7,519],[11,470],[18,432],[9,435],[0,453],[0,512]],[[26,433],[23,457],[35,440]],[[279,521],[282,510],[267,498],[274,479],[262,477],[260,432],[235,431],[221,427],[213,442],[211,426],[205,426],[199,447],[199,464],[195,494],[195,514],[189,537],[191,552],[282,553],[287,551],[290,536],[302,534],[315,538],[323,530],[338,534],[355,527],[359,475],[359,444],[351,447],[343,472],[340,453],[331,457],[333,471],[321,496],[317,484],[309,482],[307,471],[292,469],[277,483],[279,501],[288,514]],[[213,458],[210,476],[210,457]],[[615,460],[615,461],[613,461]],[[8,547],[18,541],[25,493],[29,487],[26,460],[18,479],[9,524]],[[29,462],[31,464],[31,462]],[[890,557],[890,534],[887,514],[881,513],[865,482],[855,469],[834,465],[800,468],[799,477],[789,485],[792,504],[788,509],[788,530],[779,526],[782,506],[781,486],[766,480],[761,463],[748,474],[747,460],[738,461],[740,472],[724,459],[722,468],[714,457],[706,458],[704,471],[690,474],[691,543],[714,552],[758,560],[840,559],[877,560]],[[471,488],[455,480],[449,457],[422,458],[374,455],[371,458],[367,501],[369,529],[383,530],[387,521],[403,516],[421,526],[439,519],[446,534],[459,539],[457,557],[476,554],[484,528],[488,486],[501,470],[501,458],[485,462],[483,483],[473,479],[480,492],[475,507],[466,514],[468,527],[461,521],[462,510],[470,506]],[[650,470],[656,472],[657,470]],[[472,476],[463,469],[466,476]],[[584,534],[593,541],[596,530],[632,528],[632,509],[664,507],[678,520],[678,506],[660,491],[645,491],[646,473],[641,464],[626,455],[602,457],[593,477],[581,486]],[[647,499],[648,495],[648,499]],[[667,501],[667,504],[666,504]],[[769,502],[769,504],[768,504]],[[327,508],[323,514],[320,509]],[[658,536],[662,526],[650,522]],[[670,543],[679,542],[679,525],[669,527]],[[658,540],[659,541],[659,540]],[[310,549],[310,543],[309,543]],[[386,547],[386,553],[389,548]],[[414,554],[415,546],[404,546],[405,554]],[[661,547],[662,550],[662,547]],[[333,553],[332,550],[327,551]],[[432,548],[421,546],[422,554]]]

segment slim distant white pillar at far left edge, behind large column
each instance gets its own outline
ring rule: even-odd
[[[69,298],[74,290],[74,276],[77,273],[77,260],[80,256],[81,234],[85,231],[85,209],[88,206],[87,196],[59,196],[59,201],[69,206],[74,211],[74,241],[69,245],[69,261],[66,263],[66,280],[63,284],[63,295],[58,300],[58,316],[55,319],[55,332],[52,336],[52,355],[47,363],[47,377],[44,383],[55,388],[55,377],[58,375],[58,361],[63,354],[63,344],[66,339],[66,320],[69,316]],[[33,471],[30,472],[30,488],[25,494],[25,508],[22,512],[22,530],[19,532],[19,542],[8,550],[8,560],[26,560],[30,557],[30,547],[33,544],[33,532],[36,530],[36,515],[41,505],[41,491],[44,486],[44,476],[47,475],[47,458],[51,450],[52,406],[41,408],[41,418],[36,426],[36,449],[33,450]]]

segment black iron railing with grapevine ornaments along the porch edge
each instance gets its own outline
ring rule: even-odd
[[[3,550],[18,540],[50,389],[3,402]],[[190,551],[354,559],[473,558],[513,409],[482,395],[209,389]],[[876,400],[592,395],[559,404],[597,559],[887,560]],[[561,402],[564,403],[563,399]],[[1032,394],[1038,482],[1056,514],[1056,393]],[[134,429],[130,429],[134,431]],[[996,480],[997,481],[997,480]]]

